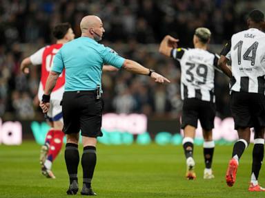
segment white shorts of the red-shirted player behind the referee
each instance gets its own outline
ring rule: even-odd
[[[63,122],[63,112],[60,105],[61,100],[50,100],[50,108],[48,110],[48,117],[51,121]]]

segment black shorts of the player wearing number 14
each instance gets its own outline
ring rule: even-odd
[[[265,126],[264,94],[232,91],[230,109],[235,121],[235,129]]]

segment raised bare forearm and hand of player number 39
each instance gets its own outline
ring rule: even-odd
[[[172,36],[166,35],[159,45],[159,53],[170,57],[171,50],[177,47],[179,40]]]

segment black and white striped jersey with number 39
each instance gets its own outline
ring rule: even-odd
[[[215,102],[214,78],[219,56],[199,48],[177,48],[171,56],[181,65],[181,99]]]

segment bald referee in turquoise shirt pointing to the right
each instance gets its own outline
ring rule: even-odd
[[[91,188],[91,180],[97,162],[97,137],[102,136],[101,120],[103,101],[101,100],[101,73],[103,65],[128,72],[150,76],[157,83],[170,83],[167,78],[147,69],[135,61],[119,56],[109,47],[97,43],[105,32],[99,17],[89,15],[80,23],[81,37],[61,47],[56,54],[52,71],[48,76],[42,101],[39,106],[43,113],[50,107],[50,93],[57,78],[66,69],[66,85],[63,94],[63,132],[66,133],[65,160],[70,179],[68,195],[78,191],[77,168],[79,164],[79,131],[81,129],[84,152],[81,157],[83,168],[83,188],[81,195],[96,195]]]

